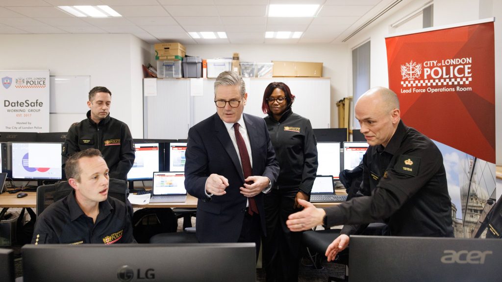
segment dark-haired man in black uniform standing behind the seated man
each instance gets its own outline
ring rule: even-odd
[[[110,178],[127,180],[136,148],[127,124],[110,117],[110,105],[110,90],[102,86],[91,89],[87,118],[70,127],[63,154],[67,159],[88,148],[98,149],[110,169]]]

